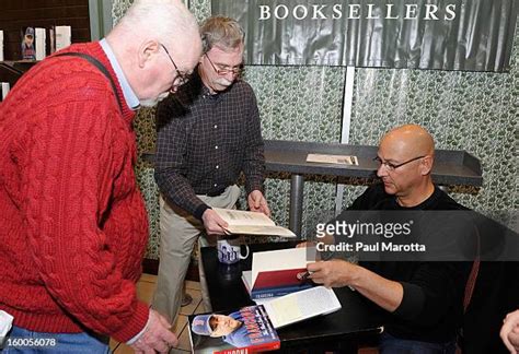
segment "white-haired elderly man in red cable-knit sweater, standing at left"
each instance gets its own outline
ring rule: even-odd
[[[104,353],[108,337],[136,352],[176,344],[136,296],[148,224],[131,122],[139,105],[185,81],[200,52],[180,0],[137,0],[106,38],[36,64],[0,105],[7,352],[42,337],[54,353]]]

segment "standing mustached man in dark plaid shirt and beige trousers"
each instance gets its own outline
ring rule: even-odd
[[[214,16],[200,28],[204,55],[189,82],[158,107],[155,180],[161,191],[161,245],[153,308],[174,321],[195,241],[222,235],[214,208],[234,208],[245,175],[247,204],[270,214],[263,196],[264,143],[252,87],[239,79],[243,30]],[[201,239],[200,239],[201,240]],[[201,264],[200,284],[210,310]]]

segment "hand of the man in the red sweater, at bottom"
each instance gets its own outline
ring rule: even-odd
[[[170,347],[178,344],[178,340],[175,333],[170,331],[171,324],[162,315],[150,309],[149,316],[145,332],[130,346],[136,353],[168,353]]]

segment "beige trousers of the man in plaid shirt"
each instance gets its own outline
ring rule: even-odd
[[[234,208],[240,197],[240,188],[235,185],[228,187],[218,197],[197,196],[206,204],[214,208]],[[198,247],[216,244],[215,237],[209,241],[205,236],[204,224],[181,208],[169,204],[162,196],[160,201],[160,263],[157,290],[153,296],[152,307],[174,323],[178,315],[183,284],[189,266],[191,255],[195,241]],[[198,259],[198,271],[200,273],[200,290],[206,311],[211,311],[207,282],[204,273],[201,259]]]

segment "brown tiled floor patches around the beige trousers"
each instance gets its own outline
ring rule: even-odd
[[[151,304],[153,292],[157,286],[157,275],[142,274],[137,283],[137,295],[143,302]],[[205,312],[201,303],[200,284],[197,282],[186,281],[186,292],[193,297],[193,303],[181,308],[181,315],[173,327],[173,332],[178,337],[178,346],[170,353],[185,354],[191,353],[189,331],[186,327],[187,316],[193,314]],[[125,343],[118,343],[113,339],[109,341],[109,347],[115,354],[130,354],[134,351]]]

